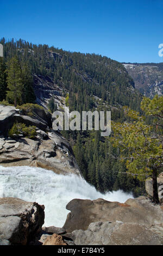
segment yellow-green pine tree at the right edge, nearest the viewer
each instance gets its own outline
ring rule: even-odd
[[[131,120],[123,124],[112,122],[114,131],[112,142],[116,148],[120,149],[121,160],[125,159],[128,172],[136,174],[139,180],[145,180],[147,176],[153,178],[153,200],[156,203],[159,202],[156,175],[163,169],[162,103],[163,96],[158,95],[152,100],[144,97],[141,102],[141,108],[145,114],[155,117],[153,125],[148,125],[145,117],[127,107],[124,111]]]

